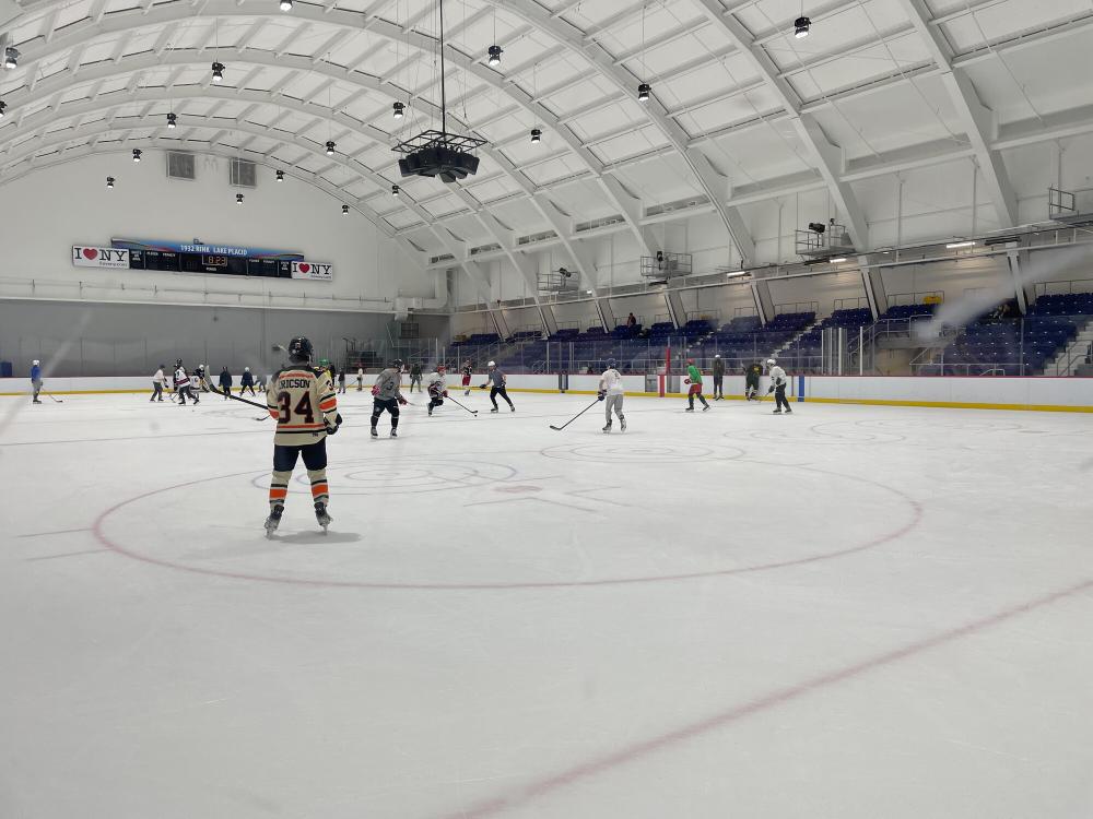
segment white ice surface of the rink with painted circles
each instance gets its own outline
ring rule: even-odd
[[[454,394],[0,400],[0,817],[1093,816],[1090,416]]]

